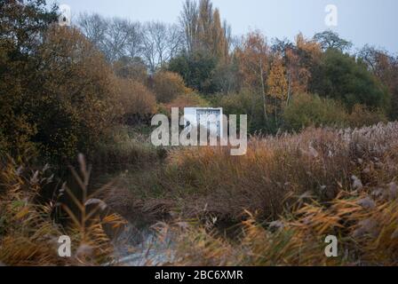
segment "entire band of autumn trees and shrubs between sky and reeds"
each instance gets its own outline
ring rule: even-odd
[[[95,153],[133,114],[223,106],[250,130],[360,126],[398,117],[398,58],[326,31],[267,41],[232,36],[210,0],[176,24],[82,14],[57,24],[44,0],[0,4],[0,153]]]

